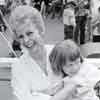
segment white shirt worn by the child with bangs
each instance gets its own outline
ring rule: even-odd
[[[99,80],[100,70],[96,66],[84,62],[79,72],[66,82],[66,84],[72,82],[79,86],[76,87],[77,92],[71,100],[99,100],[94,91],[94,87]]]

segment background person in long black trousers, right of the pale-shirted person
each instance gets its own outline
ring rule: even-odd
[[[76,12],[76,29],[74,34],[74,40],[77,44],[85,43],[85,26],[87,21],[87,12],[85,4],[88,3],[87,0],[77,0]],[[79,41],[80,40],[80,41]],[[80,42],[80,43],[79,43]]]

